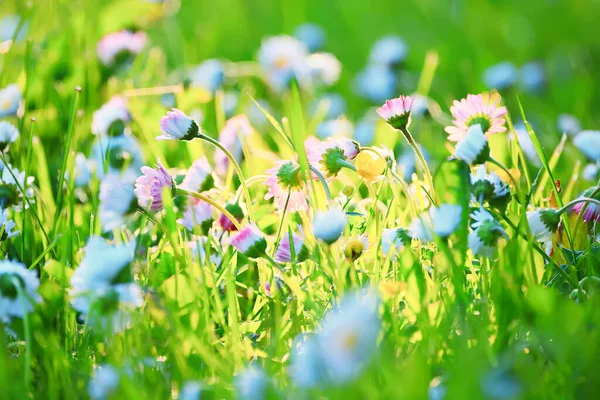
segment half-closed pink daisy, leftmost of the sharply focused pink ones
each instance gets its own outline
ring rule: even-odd
[[[163,207],[163,189],[173,189],[173,179],[160,161],[156,168],[142,167],[142,174],[135,180],[134,192],[138,204],[140,207],[149,207],[151,211],[158,211]]]

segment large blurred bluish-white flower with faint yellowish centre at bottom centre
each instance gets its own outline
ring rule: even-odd
[[[322,322],[317,340],[327,378],[341,384],[353,379],[377,349],[381,330],[379,298],[372,293],[347,294]]]

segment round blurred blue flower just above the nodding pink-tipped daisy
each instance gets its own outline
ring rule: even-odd
[[[362,98],[381,103],[396,94],[397,78],[387,65],[369,65],[358,73],[354,90]]]

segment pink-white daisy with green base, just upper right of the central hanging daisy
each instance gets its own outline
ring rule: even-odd
[[[336,176],[359,152],[358,144],[344,137],[329,138],[324,142],[308,138],[304,146],[309,164],[328,178]]]

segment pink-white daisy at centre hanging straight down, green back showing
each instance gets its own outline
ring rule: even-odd
[[[278,161],[268,169],[265,180],[268,187],[265,200],[274,199],[277,210],[282,213],[308,211],[304,181],[300,176],[300,166],[294,161]]]

